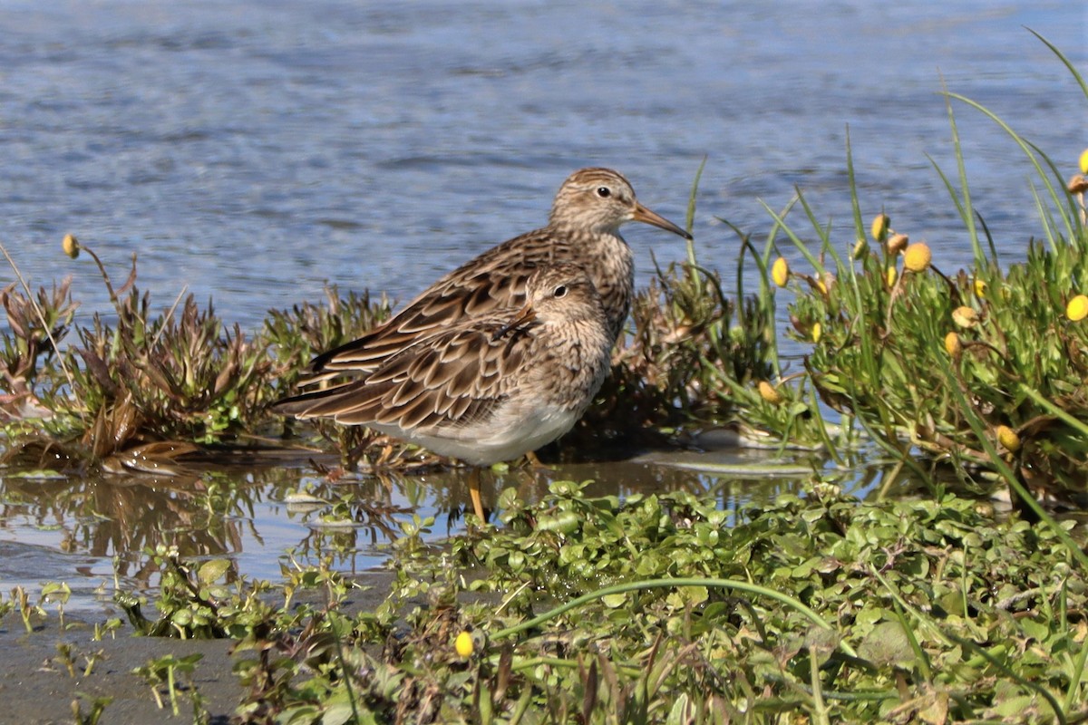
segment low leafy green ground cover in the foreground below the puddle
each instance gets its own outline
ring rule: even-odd
[[[438,550],[421,538],[433,521],[406,523],[373,611],[351,610],[326,563],[227,584],[226,560],[159,549],[159,618],[134,622],[238,639],[240,722],[1088,716],[1083,567],[1051,529],[976,501],[814,485],[730,521],[687,493],[562,482],[502,503],[500,527]],[[176,677],[198,667],[166,657],[137,674],[176,713]]]

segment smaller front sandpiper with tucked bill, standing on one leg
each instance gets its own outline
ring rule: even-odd
[[[613,332],[586,272],[544,264],[520,309],[481,314],[404,347],[364,376],[276,403],[300,418],[366,425],[479,466],[508,461],[570,430],[608,374]]]

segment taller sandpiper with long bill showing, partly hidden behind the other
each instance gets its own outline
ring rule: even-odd
[[[582,168],[556,193],[547,226],[509,239],[431,285],[408,305],[363,337],[311,362],[314,383],[366,375],[420,338],[467,317],[524,302],[526,280],[545,263],[584,268],[601,295],[611,342],[631,308],[634,255],[619,235],[627,222],[644,222],[690,239],[672,222],[643,207],[628,180],[608,168]]]

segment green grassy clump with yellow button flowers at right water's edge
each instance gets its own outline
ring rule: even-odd
[[[992,240],[989,255],[978,245],[986,227],[972,224],[965,176],[950,191],[976,235],[976,263],[951,277],[924,242],[907,246],[905,234],[888,228],[886,215],[874,220],[866,238],[858,207],[857,241],[838,250],[830,228],[816,223],[801,198],[818,257],[782,228],[826,284],[795,280],[790,313],[795,336],[813,342],[812,384],[883,448],[904,458],[917,448],[961,472],[994,471],[1007,458],[1022,483],[1062,495],[1084,490],[1088,472],[1088,427],[1079,423],[1088,412],[1088,333],[1066,315],[1088,278],[1088,234],[1083,205],[1059,193],[1064,184],[1050,177],[1056,167],[1030,153],[1048,170],[1042,182],[1053,207],[1040,197],[1039,211],[1049,242],[1031,242],[1027,261],[1004,272]],[[821,262],[826,258],[833,263]],[[1000,426],[1015,436],[999,441]]]

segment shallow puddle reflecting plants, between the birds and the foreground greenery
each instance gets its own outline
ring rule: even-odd
[[[99,579],[100,591],[94,595],[99,602],[111,599],[114,577],[124,589],[146,591],[156,586],[158,574],[146,552],[159,545],[177,547],[184,558],[226,557],[231,578],[279,580],[283,566],[322,561],[360,574],[385,562],[401,524],[413,515],[434,517],[424,538],[435,545],[463,530],[467,468],[333,480],[298,463],[201,464],[176,476],[33,478],[9,473],[0,480],[0,542],[37,545],[66,555],[50,558],[34,572],[37,580],[0,561],[0,590],[84,576]],[[553,482],[570,479],[592,480],[589,496],[675,490],[713,496],[732,513],[800,485],[789,478],[724,478],[640,459],[512,466],[486,473],[481,492],[493,510],[507,488],[533,502],[547,495]],[[492,521],[498,521],[494,513]]]

